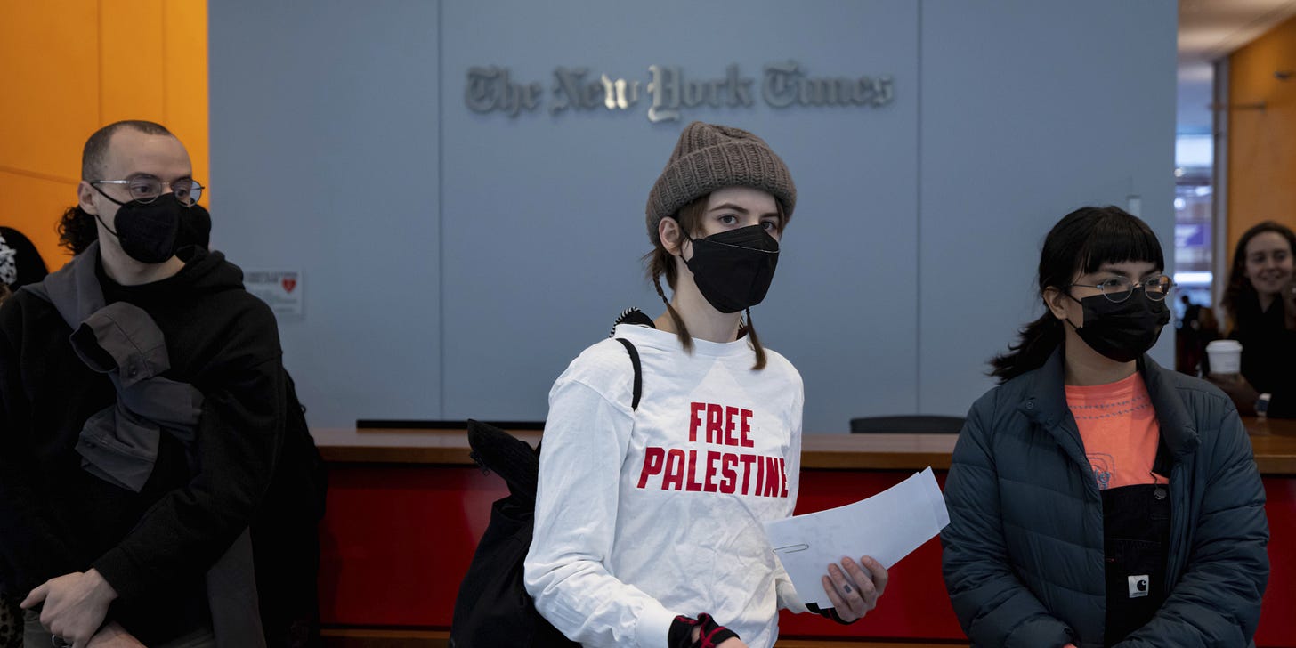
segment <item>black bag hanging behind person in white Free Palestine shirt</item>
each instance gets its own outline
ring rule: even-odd
[[[629,340],[617,338],[634,365],[634,400],[639,408],[643,376],[639,351]],[[550,648],[579,645],[562,636],[526,594],[522,562],[531,547],[535,524],[535,483],[540,448],[485,422],[468,421],[472,457],[483,470],[508,483],[508,496],[491,504],[490,524],[477,543],[468,573],[459,584],[455,614],[450,623],[450,648]]]

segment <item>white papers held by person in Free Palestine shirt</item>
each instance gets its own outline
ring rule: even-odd
[[[950,524],[932,469],[854,504],[765,522],[774,552],[804,603],[831,608],[820,578],[829,562],[861,556],[890,569]]]

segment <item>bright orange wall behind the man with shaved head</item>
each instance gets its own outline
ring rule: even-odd
[[[98,127],[162,123],[207,181],[206,0],[0,0],[0,224],[51,268],[67,259],[53,227]]]

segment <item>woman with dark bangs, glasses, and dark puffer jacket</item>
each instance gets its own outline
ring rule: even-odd
[[[973,645],[1251,644],[1265,491],[1229,397],[1147,355],[1164,268],[1118,207],[1048,232],[1047,312],[993,360],[945,482],[945,584]]]

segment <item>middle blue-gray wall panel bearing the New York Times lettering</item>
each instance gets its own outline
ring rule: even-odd
[[[639,263],[649,250],[643,209],[692,119],[754,131],[796,178],[785,254],[753,319],[805,377],[806,429],[915,407],[918,5],[737,6],[446,4],[447,417],[543,419],[553,378],[608,334],[621,308],[664,310]],[[507,66],[548,93],[557,66],[647,83],[654,64],[692,78],[739,64],[759,92],[762,67],[789,58],[813,76],[892,74],[896,100],[780,111],[757,97],[753,108],[686,109],[682,121],[657,124],[645,105],[509,119],[463,102],[467,70],[480,65]]]

